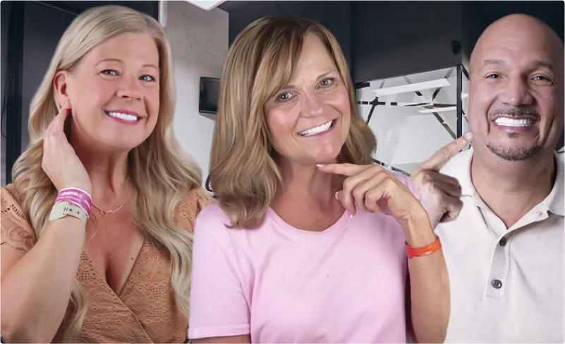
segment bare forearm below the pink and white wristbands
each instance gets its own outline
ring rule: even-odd
[[[66,216],[48,223],[44,234],[1,276],[1,331],[10,342],[50,342],[71,297],[85,225]]]

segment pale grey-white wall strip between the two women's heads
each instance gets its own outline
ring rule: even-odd
[[[205,11],[186,1],[166,1],[166,33],[176,81],[174,132],[208,175],[214,121],[198,113],[200,76],[219,78],[228,54],[228,13]]]

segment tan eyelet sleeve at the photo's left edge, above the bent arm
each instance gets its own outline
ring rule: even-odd
[[[37,237],[25,218],[23,209],[16,201],[16,191],[12,184],[0,189],[0,244],[30,251],[37,242]]]

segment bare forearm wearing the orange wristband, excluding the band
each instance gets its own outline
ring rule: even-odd
[[[427,218],[415,221],[406,232],[411,247],[435,241]],[[449,278],[442,249],[408,259],[411,289],[411,320],[419,343],[442,343],[449,321]]]

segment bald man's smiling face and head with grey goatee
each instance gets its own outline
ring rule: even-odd
[[[470,66],[473,146],[504,160],[553,150],[563,130],[563,45],[539,20],[509,16],[480,37]]]

